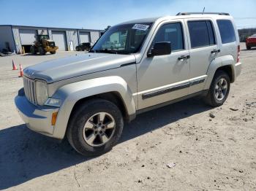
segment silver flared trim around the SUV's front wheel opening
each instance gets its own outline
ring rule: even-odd
[[[129,89],[127,82],[123,78],[113,77],[99,77],[95,79],[88,79],[85,81],[74,82],[69,85],[60,87],[54,93],[53,98],[61,99],[61,107],[56,120],[56,125],[53,130],[53,135],[59,139],[63,139],[69,116],[72,112],[75,103],[82,98],[87,98],[91,95],[100,93],[117,92],[121,95],[124,105],[126,106],[129,115],[136,113],[135,101],[132,97],[132,91]]]

